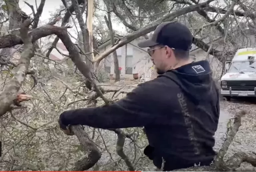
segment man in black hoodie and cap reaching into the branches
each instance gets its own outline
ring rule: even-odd
[[[60,127],[145,128],[149,145],[144,153],[164,171],[210,165],[215,157],[214,134],[219,118],[219,97],[207,61],[192,62],[193,36],[178,22],[160,24],[151,39],[138,44],[150,47],[159,76],[138,85],[114,104],[65,111]]]

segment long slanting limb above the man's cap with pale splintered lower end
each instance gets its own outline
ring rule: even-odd
[[[138,31],[135,31],[129,35],[126,35],[125,37],[123,37],[122,39],[120,39],[118,42],[116,42],[115,45],[111,46],[109,49],[107,49],[104,53],[102,53],[101,55],[99,55],[99,57],[97,57],[96,61],[96,66],[99,65],[100,61],[102,59],[104,59],[105,57],[107,57],[110,53],[112,53],[113,51],[115,51],[116,49],[118,49],[119,47],[122,47],[123,45],[133,41],[134,39],[143,36],[153,30],[156,29],[156,27],[162,23],[162,22],[166,22],[166,21],[172,21],[173,19],[175,19],[176,17],[179,17],[183,14],[192,12],[192,11],[196,11],[199,7],[200,8],[205,8],[209,5],[210,2],[212,2],[214,0],[208,0],[206,2],[203,3],[199,3],[196,5],[192,5],[189,7],[185,7],[179,10],[176,10],[170,14],[166,14],[165,16],[163,16],[160,19],[155,20],[154,22],[152,22],[151,24],[148,24],[147,26],[139,29]]]

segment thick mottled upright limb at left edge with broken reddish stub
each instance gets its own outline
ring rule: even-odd
[[[24,42],[24,51],[21,54],[15,74],[9,84],[0,94],[0,117],[10,110],[11,105],[17,99],[17,93],[26,77],[30,59],[34,56],[32,39],[28,35],[28,27],[31,20],[25,20],[20,26],[20,39]]]

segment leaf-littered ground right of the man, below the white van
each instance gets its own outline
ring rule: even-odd
[[[219,118],[218,130],[215,134],[215,149],[218,150],[224,142],[227,124],[229,119],[233,118],[238,110],[245,109],[248,113],[242,117],[242,125],[240,126],[233,142],[229,146],[226,158],[232,156],[236,152],[256,152],[256,105],[255,101],[221,101],[221,113]],[[243,165],[250,165],[243,163]],[[250,165],[251,166],[251,165]]]

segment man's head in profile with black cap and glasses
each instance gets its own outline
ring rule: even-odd
[[[158,25],[151,39],[138,43],[141,48],[149,47],[158,74],[175,68],[178,64],[189,61],[193,35],[179,22],[164,22]]]

